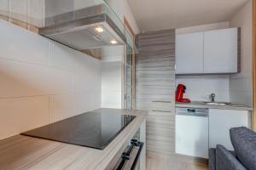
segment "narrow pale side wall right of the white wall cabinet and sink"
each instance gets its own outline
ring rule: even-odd
[[[230,20],[230,26],[241,27],[241,73],[230,76],[230,100],[253,105],[252,1],[249,0]]]

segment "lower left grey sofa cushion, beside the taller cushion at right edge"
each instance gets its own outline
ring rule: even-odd
[[[217,145],[216,148],[216,170],[247,170],[235,156],[224,148]]]

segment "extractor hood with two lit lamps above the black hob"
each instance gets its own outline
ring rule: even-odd
[[[102,5],[96,5],[56,14],[46,18],[45,27],[39,28],[38,32],[79,51],[125,44],[126,37],[119,23],[106,11]]]

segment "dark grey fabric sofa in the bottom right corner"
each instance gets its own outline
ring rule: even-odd
[[[256,133],[247,127],[230,129],[234,151],[218,144],[209,150],[209,170],[256,170]]]

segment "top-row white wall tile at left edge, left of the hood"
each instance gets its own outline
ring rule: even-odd
[[[48,40],[0,20],[0,58],[48,65]]]

